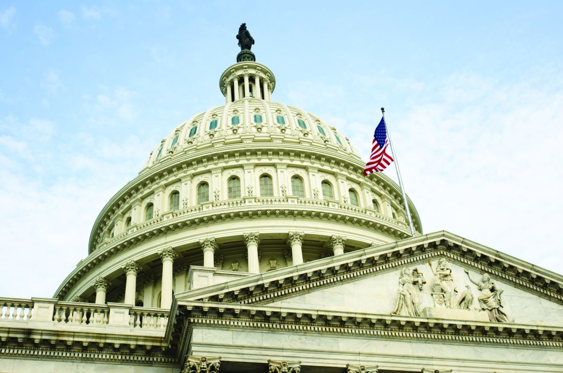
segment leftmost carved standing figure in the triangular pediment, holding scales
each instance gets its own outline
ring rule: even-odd
[[[422,316],[422,286],[426,284],[418,269],[408,267],[401,269],[399,277],[399,298],[395,311],[391,314],[404,316]]]

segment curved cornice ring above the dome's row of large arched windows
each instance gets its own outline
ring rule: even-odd
[[[282,137],[285,141],[276,143],[276,151],[271,150],[269,140],[243,143],[240,137],[237,137],[238,142],[229,145],[219,143],[213,146],[209,143],[213,152],[209,151],[209,147],[198,149],[198,146],[193,145],[173,155],[164,156],[159,163],[154,164],[147,172],[140,173],[111,197],[93,224],[89,239],[89,251],[91,252],[93,249],[95,237],[102,228],[102,223],[110,222],[116,212],[129,204],[133,204],[140,195],[146,194],[146,190],[152,190],[159,185],[167,185],[188,174],[210,172],[211,168],[219,165],[226,167],[226,165],[233,164],[244,165],[249,161],[261,164],[287,161],[288,163],[295,163],[299,167],[313,166],[325,172],[346,172],[348,177],[357,178],[358,182],[365,182],[368,179],[371,182],[370,186],[379,193],[391,197],[396,206],[400,205],[399,187],[384,174],[371,174],[368,178],[365,178],[363,176],[363,161],[357,156],[332,150],[324,143],[319,143],[313,151],[310,150],[311,147],[303,147],[300,143],[296,143],[298,138],[294,136],[282,135]],[[265,156],[263,158],[262,156],[258,157],[259,152]],[[409,206],[415,221],[418,223],[418,230],[421,231],[418,212],[410,199]]]

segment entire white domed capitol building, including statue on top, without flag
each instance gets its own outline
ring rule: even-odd
[[[423,234],[408,200],[412,237],[238,39],[225,104],[155,146],[53,298],[0,298],[0,372],[563,372],[563,277]]]

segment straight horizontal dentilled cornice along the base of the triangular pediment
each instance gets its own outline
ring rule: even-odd
[[[436,340],[449,343],[508,344],[558,349],[563,347],[563,328],[557,326],[473,322],[201,301],[178,302],[180,313],[182,313],[182,309],[185,309],[185,322],[190,325],[336,335],[372,335],[379,338]],[[185,328],[185,326],[181,327]],[[176,326],[175,334],[178,334],[179,331],[180,326]]]

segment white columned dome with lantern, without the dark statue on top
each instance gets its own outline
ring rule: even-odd
[[[168,308],[182,291],[410,236],[399,187],[364,176],[332,125],[273,102],[274,74],[244,58],[221,74],[225,104],[173,129],[104,206],[56,298]]]

